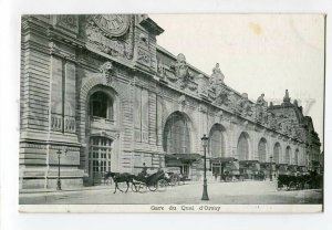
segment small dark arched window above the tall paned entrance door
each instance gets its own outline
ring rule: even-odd
[[[90,97],[90,115],[94,117],[113,119],[113,101],[102,92],[95,92]]]

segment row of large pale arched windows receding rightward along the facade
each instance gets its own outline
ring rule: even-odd
[[[216,124],[212,126],[209,133],[209,146],[208,153],[212,158],[226,157],[226,129],[224,126]],[[190,127],[188,126],[187,117],[176,112],[172,114],[164,129],[164,150],[167,154],[190,154]],[[239,160],[250,159],[250,144],[249,135],[243,132],[241,133],[238,145],[237,155]],[[273,146],[272,161],[273,163],[286,163],[286,164],[299,164],[299,149],[295,149],[294,158],[291,159],[291,148],[288,146],[284,153],[284,160],[281,157],[281,146],[277,143]],[[258,159],[261,163],[269,161],[267,140],[261,138],[258,144]]]

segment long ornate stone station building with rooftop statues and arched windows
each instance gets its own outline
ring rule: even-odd
[[[24,15],[21,46],[20,188],[98,185],[106,171],[179,168],[248,177],[320,170],[312,119],[286,91],[256,103],[156,43],[146,14]],[[180,39],[180,38],[179,38]]]

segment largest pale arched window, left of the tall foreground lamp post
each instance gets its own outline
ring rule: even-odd
[[[186,117],[172,114],[165,125],[164,150],[167,154],[190,154],[190,133]]]

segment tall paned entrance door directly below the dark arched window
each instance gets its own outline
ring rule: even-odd
[[[89,153],[89,175],[92,185],[101,185],[106,171],[111,171],[112,139],[91,137]]]

